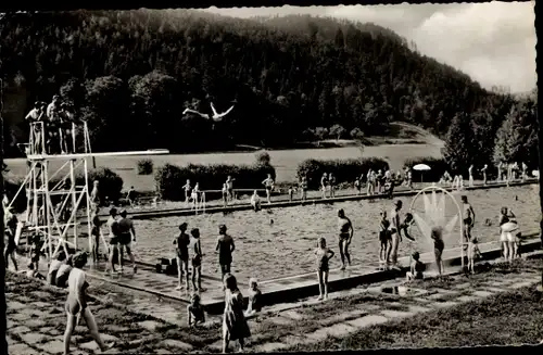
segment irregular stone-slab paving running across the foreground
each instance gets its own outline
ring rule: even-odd
[[[63,303],[65,291],[36,286],[36,280],[7,282],[8,343],[11,355],[53,355],[62,353],[62,333],[65,327]],[[21,280],[23,279],[23,280]],[[420,313],[454,307],[460,303],[477,302],[491,295],[530,287],[541,281],[535,269],[520,272],[480,274],[470,278],[456,276],[446,281],[425,280],[413,283],[405,295],[381,292],[386,287],[404,283],[389,281],[371,288],[357,288],[330,294],[327,302],[308,299],[295,304],[268,308],[266,314],[250,319],[252,337],[249,351],[273,352],[294,345],[317,343],[328,337],[346,337],[372,325],[413,317]],[[15,283],[17,289],[15,292]],[[21,286],[22,283],[22,286]],[[108,353],[156,354],[220,351],[220,326],[192,331],[182,325],[172,325],[157,317],[126,314],[119,305],[90,303],[102,337],[115,341]],[[179,313],[185,309],[179,309]],[[74,354],[93,354],[97,345],[84,326],[73,337]]]

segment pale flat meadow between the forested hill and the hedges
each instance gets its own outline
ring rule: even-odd
[[[405,126],[405,127],[404,127]],[[341,147],[330,149],[290,149],[290,150],[270,150],[272,165],[276,168],[278,182],[294,181],[298,165],[307,159],[333,160],[351,157],[371,157],[378,156],[389,162],[391,167],[396,170],[402,168],[406,159],[416,156],[441,156],[439,140],[425,134],[417,127],[407,124],[397,124],[393,126],[390,137],[376,137],[374,143],[380,145],[367,145],[362,151],[358,147]],[[421,143],[409,143],[417,141]],[[426,142],[426,143],[425,143]],[[202,153],[202,154],[171,154],[157,156],[115,156],[99,157],[96,160],[97,166],[105,166],[117,173],[124,181],[124,189],[128,190],[131,186],[141,192],[154,191],[153,175],[138,175],[137,162],[141,159],[152,159],[154,169],[166,163],[175,165],[187,164],[253,164],[255,162],[254,152],[225,152],[225,153]],[[9,159],[5,160],[10,172],[8,176],[25,177],[27,174],[26,160]],[[89,166],[92,162],[89,159]],[[60,167],[62,163],[51,162],[51,169]],[[263,177],[264,179],[264,177]],[[220,187],[205,187],[206,189],[219,189]],[[238,187],[243,188],[243,187]]]

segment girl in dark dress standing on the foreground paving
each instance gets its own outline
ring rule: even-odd
[[[238,281],[231,274],[224,277],[225,313],[223,315],[223,353],[228,352],[230,341],[238,341],[243,352],[245,339],[251,337],[251,330],[243,314],[243,295],[238,289]]]

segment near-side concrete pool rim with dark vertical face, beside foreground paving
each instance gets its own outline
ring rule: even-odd
[[[522,253],[532,252],[541,246],[540,239],[535,238],[539,236],[539,232],[532,231],[526,236],[530,239],[523,242],[521,248]],[[483,258],[487,261],[497,258],[501,255],[498,242],[481,243],[479,244],[479,249]],[[459,248],[445,250],[443,253],[445,265],[459,265]],[[433,266],[433,253],[422,253],[420,259],[427,265],[427,269]],[[399,258],[399,264],[403,266],[402,270],[380,270],[375,263],[353,265],[344,271],[332,269],[329,274],[329,291],[341,291],[359,284],[387,281],[401,277],[404,275],[406,266],[409,265],[409,256]],[[154,267],[149,264],[143,264],[137,274],[129,270],[124,275],[106,275],[103,272],[103,265],[96,268],[88,268],[87,272],[91,278],[155,294],[159,297],[171,299],[182,303],[188,303],[190,300],[190,292],[175,290],[177,286],[176,277],[157,274]],[[247,293],[247,287],[241,286],[245,282],[242,280],[239,280],[239,282],[240,289],[243,293]],[[205,306],[206,312],[211,314],[220,313],[224,309],[224,293],[220,279],[204,276],[202,278],[202,284],[206,289],[206,291],[201,293],[202,304]],[[314,272],[260,281],[260,288],[263,292],[263,303],[266,306],[277,303],[293,302],[302,297],[318,294],[318,282]]]

